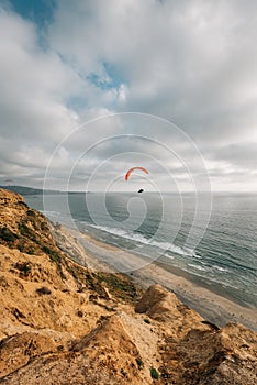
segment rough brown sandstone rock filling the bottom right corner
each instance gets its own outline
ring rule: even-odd
[[[191,330],[178,343],[166,341],[161,370],[175,384],[254,385],[256,346],[257,334],[239,324]]]

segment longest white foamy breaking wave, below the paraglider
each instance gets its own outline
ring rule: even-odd
[[[87,223],[87,226],[89,226]],[[191,249],[183,249],[180,246],[177,246],[176,244],[171,243],[171,242],[161,242],[161,241],[157,241],[155,239],[148,239],[142,234],[135,234],[135,233],[130,233],[125,230],[122,229],[118,229],[118,228],[109,228],[105,226],[98,226],[98,224],[90,224],[91,228],[108,232],[112,235],[118,235],[120,238],[123,239],[127,239],[134,242],[138,242],[138,246],[142,248],[142,244],[146,244],[149,246],[155,246],[158,248],[160,250],[165,250],[165,251],[171,251],[175,254],[179,254],[179,255],[185,255],[185,256],[197,256],[195,252]]]

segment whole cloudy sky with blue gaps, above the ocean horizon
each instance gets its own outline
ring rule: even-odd
[[[256,42],[255,0],[0,0],[0,184],[257,191]]]

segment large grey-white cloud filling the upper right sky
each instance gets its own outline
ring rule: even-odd
[[[228,139],[239,139],[242,124],[253,133],[257,118],[254,8],[252,1],[62,1],[49,35],[79,72],[105,78],[105,63],[114,68],[127,89],[116,109],[171,119],[199,141],[224,134],[224,125]]]

